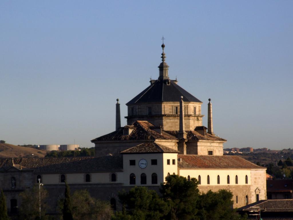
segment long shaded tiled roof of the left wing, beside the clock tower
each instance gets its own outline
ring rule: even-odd
[[[18,164],[34,172],[95,172],[122,170],[121,156],[67,157],[67,158],[14,158]],[[0,158],[0,171],[13,167],[11,158]]]

